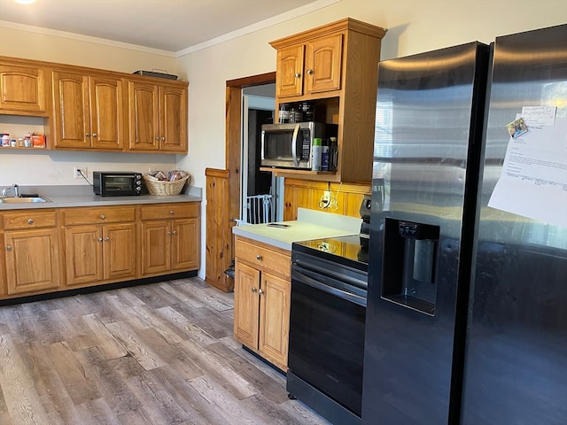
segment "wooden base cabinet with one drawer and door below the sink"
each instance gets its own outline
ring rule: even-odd
[[[55,211],[4,213],[2,221],[7,295],[57,290],[59,251]]]

